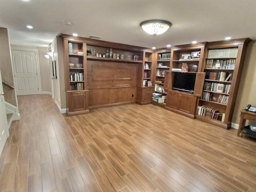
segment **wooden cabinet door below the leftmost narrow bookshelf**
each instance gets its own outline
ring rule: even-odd
[[[86,92],[70,93],[69,112],[86,110]]]

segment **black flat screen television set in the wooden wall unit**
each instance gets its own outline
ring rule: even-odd
[[[196,73],[174,73],[173,90],[194,93]]]

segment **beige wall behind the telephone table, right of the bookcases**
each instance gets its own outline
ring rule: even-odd
[[[248,44],[242,78],[236,98],[232,122],[239,124],[240,111],[247,104],[256,106],[256,40]],[[250,124],[255,122],[250,122]]]

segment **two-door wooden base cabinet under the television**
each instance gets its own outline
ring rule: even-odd
[[[193,94],[170,90],[166,102],[166,109],[194,118],[197,97]]]

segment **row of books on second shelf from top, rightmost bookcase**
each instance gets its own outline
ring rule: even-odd
[[[208,68],[208,69],[234,69],[235,63],[236,63],[236,59],[228,59],[228,60],[208,59],[206,61],[206,68]]]

